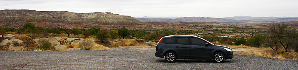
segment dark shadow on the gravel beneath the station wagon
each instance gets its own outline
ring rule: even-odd
[[[167,63],[166,60],[156,60],[157,62]],[[176,60],[175,63],[214,63],[213,60]],[[225,60],[223,63],[231,63],[231,61]]]

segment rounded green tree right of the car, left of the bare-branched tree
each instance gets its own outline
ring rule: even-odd
[[[264,35],[255,35],[254,37],[249,38],[249,42],[252,46],[257,46],[259,48],[259,46],[262,45],[264,38]]]

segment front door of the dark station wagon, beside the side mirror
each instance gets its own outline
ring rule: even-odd
[[[206,41],[199,38],[190,38],[191,40],[191,58],[193,59],[207,59],[210,56],[210,47],[205,46]]]

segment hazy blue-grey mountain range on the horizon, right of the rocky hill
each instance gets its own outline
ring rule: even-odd
[[[284,22],[298,20],[298,17],[251,17],[251,16],[235,16],[226,18],[205,18],[205,17],[183,17],[183,18],[154,18],[141,17],[135,18],[141,22],[148,21],[195,21],[195,22]]]

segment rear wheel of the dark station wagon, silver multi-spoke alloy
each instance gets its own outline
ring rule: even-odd
[[[176,54],[174,52],[167,52],[166,55],[164,55],[164,59],[166,59],[167,62],[173,63],[176,61]]]

